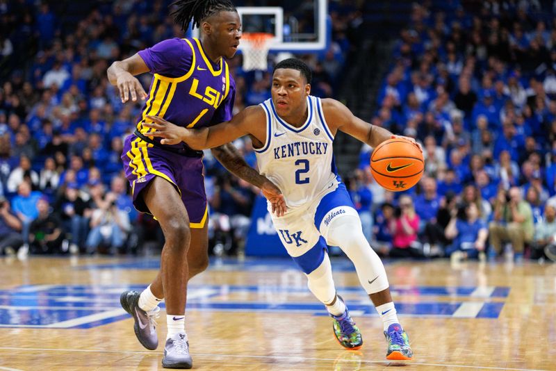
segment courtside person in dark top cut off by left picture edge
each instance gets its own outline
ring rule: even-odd
[[[23,245],[22,222],[10,212],[10,203],[0,197],[0,254],[13,255],[17,252],[23,258],[27,249]]]

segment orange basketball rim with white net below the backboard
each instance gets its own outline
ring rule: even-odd
[[[243,53],[243,69],[253,71],[268,68],[267,57],[270,44],[275,40],[272,33],[251,32],[241,36],[241,51]]]

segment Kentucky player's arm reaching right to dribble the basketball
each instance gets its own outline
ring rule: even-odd
[[[413,138],[393,135],[393,133],[380,126],[369,124],[355,116],[349,108],[335,99],[322,99],[322,110],[327,124],[334,134],[338,130],[343,131],[373,148],[390,138],[404,138],[414,142],[420,149]]]

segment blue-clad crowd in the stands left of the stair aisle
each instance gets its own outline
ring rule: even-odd
[[[121,103],[106,69],[156,42],[183,38],[170,3],[0,1],[0,255],[136,252],[147,238],[162,246],[158,223],[135,211],[122,176],[122,139],[142,107]],[[306,7],[296,5],[288,17],[311,31]],[[303,57],[314,71],[313,94],[333,94],[353,11],[332,1],[329,51]],[[236,113],[270,97],[268,72],[244,73],[240,58],[229,60]],[[145,87],[150,80],[140,76]],[[255,165],[250,142],[236,146]],[[210,151],[204,162],[211,246],[233,253],[259,191],[227,174]]]

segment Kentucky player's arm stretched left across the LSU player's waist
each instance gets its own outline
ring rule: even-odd
[[[175,145],[186,142],[193,149],[220,147],[228,142],[251,135],[254,140],[264,143],[266,140],[266,116],[261,106],[245,108],[232,117],[230,121],[202,129],[186,129],[172,124],[161,117],[147,116],[153,122],[143,126],[155,129],[150,136],[163,138],[163,145]]]

